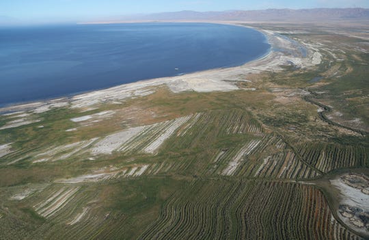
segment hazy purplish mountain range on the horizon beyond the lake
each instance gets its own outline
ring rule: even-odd
[[[337,21],[369,20],[366,8],[269,9],[225,12],[163,12],[139,17],[150,21]]]

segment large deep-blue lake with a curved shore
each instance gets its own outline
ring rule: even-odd
[[[208,23],[3,28],[0,105],[239,66],[269,49],[254,29]]]

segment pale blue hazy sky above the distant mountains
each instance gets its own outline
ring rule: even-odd
[[[0,0],[0,21],[47,23],[181,10],[268,8],[369,8],[369,0]]]

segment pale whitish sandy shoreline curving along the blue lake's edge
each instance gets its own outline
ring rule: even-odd
[[[216,92],[216,91],[230,91],[238,90],[238,88],[228,83],[226,80],[229,77],[232,79],[232,75],[247,75],[250,73],[258,73],[265,70],[280,70],[279,66],[286,65],[288,62],[294,62],[293,57],[287,56],[286,53],[275,51],[277,48],[291,48],[288,46],[288,40],[278,38],[273,31],[259,29],[256,27],[250,27],[247,25],[241,25],[241,23],[217,23],[223,25],[235,25],[237,27],[247,27],[259,31],[262,33],[267,43],[270,45],[269,50],[264,55],[257,59],[246,62],[240,66],[224,67],[224,68],[212,68],[208,70],[201,70],[197,72],[189,72],[184,75],[177,75],[172,77],[161,77],[156,79],[143,79],[135,81],[133,83],[124,83],[115,85],[109,88],[102,88],[99,90],[91,90],[86,92],[79,92],[76,94],[70,94],[66,96],[58,96],[55,98],[46,98],[38,101],[27,101],[23,103],[10,103],[9,105],[0,107],[0,114],[8,114],[14,111],[29,111],[31,109],[45,106],[45,105],[57,105],[58,103],[70,103],[75,107],[82,105],[94,105],[96,103],[102,103],[109,100],[122,100],[123,98],[129,98],[134,96],[145,96],[152,92],[143,90],[146,88],[153,88],[159,85],[167,85],[172,92]],[[293,48],[293,46],[292,46]],[[296,59],[295,62],[303,62],[303,59]],[[197,79],[194,80],[194,79]],[[237,81],[234,79],[233,81]],[[131,94],[129,93],[131,92]],[[132,92],[135,92],[132,94]],[[118,96],[124,94],[125,96]],[[114,96],[115,95],[115,96]],[[91,103],[78,104],[81,101],[91,101]],[[52,106],[51,106],[52,107]]]

